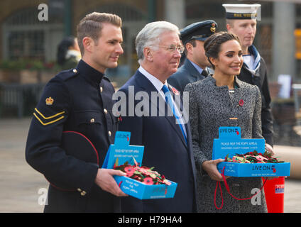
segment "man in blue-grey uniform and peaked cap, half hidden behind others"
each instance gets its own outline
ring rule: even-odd
[[[210,73],[210,64],[204,52],[204,40],[214,34],[216,29],[217,23],[212,20],[192,23],[182,29],[180,38],[185,45],[187,58],[182,67],[168,78],[168,83],[181,94],[186,84],[202,80]]]

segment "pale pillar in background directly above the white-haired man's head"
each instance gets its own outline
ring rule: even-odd
[[[184,0],[165,0],[165,21],[174,23],[180,29],[185,27]]]

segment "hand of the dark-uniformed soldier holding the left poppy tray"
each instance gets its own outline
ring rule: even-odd
[[[126,176],[126,173],[120,170],[98,169],[95,184],[101,187],[104,191],[114,194],[115,196],[128,196],[121,191],[113,178],[113,175]]]

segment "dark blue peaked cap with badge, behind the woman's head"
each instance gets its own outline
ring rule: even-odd
[[[190,40],[206,40],[214,34],[217,29],[217,23],[213,20],[200,21],[192,23],[180,31],[180,38],[185,45]]]

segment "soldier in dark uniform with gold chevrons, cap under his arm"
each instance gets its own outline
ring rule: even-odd
[[[124,174],[101,167],[118,125],[111,111],[114,87],[104,71],[116,67],[123,53],[121,18],[90,13],[77,26],[77,36],[82,60],[46,85],[33,113],[26,160],[50,182],[45,212],[119,211],[116,196],[126,194],[112,175]],[[66,146],[77,151],[67,153],[62,147],[63,134],[70,131],[91,143],[97,157],[94,162],[84,160],[88,151],[77,140]]]

